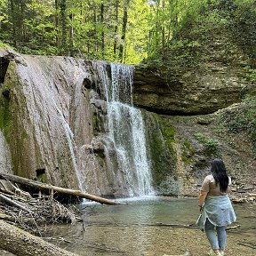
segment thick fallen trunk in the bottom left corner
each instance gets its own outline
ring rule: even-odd
[[[19,256],[78,256],[0,220],[0,249]]]

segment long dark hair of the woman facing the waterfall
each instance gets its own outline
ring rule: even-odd
[[[228,189],[228,174],[225,164],[220,158],[212,161],[212,176],[216,182],[216,186],[220,185],[220,191],[226,192]]]

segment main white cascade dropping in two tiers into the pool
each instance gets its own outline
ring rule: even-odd
[[[111,63],[110,68],[110,79],[106,68],[98,70],[107,92],[108,134],[116,149],[119,172],[129,196],[153,195],[143,119],[140,109],[132,107],[133,68],[119,63]]]

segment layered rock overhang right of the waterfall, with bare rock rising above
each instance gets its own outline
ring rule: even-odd
[[[134,104],[159,114],[209,114],[255,93],[255,86],[244,79],[244,52],[227,35],[219,37],[206,44],[207,52],[200,51],[207,60],[195,60],[195,67],[172,62],[136,68]]]

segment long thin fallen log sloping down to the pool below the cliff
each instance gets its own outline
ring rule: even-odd
[[[100,204],[122,204],[122,203],[118,203],[116,201],[113,200],[109,200],[106,198],[102,198],[100,196],[94,196],[92,194],[88,194],[88,193],[84,193],[81,190],[75,190],[75,189],[70,189],[70,188],[60,188],[57,186],[52,186],[50,184],[46,184],[46,183],[42,183],[36,180],[29,180],[20,176],[16,176],[16,175],[12,175],[9,173],[3,173],[0,172],[0,179],[4,179],[4,180],[11,180],[12,182],[16,182],[19,184],[23,184],[26,185],[28,187],[32,187],[32,188],[38,188],[41,190],[48,190],[48,191],[55,191],[58,192],[60,194],[64,194],[64,195],[68,195],[68,196],[78,196],[81,198],[86,198],[95,202],[98,202]]]

